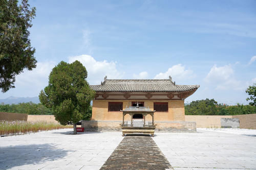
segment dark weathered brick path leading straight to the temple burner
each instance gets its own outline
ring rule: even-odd
[[[125,136],[101,170],[173,169],[151,136]]]

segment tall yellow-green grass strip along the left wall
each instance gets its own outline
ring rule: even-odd
[[[0,135],[19,135],[30,132],[49,131],[65,128],[73,128],[73,126],[63,126],[49,122],[2,121],[0,122]]]

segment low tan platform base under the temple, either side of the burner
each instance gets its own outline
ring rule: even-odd
[[[82,120],[85,131],[122,131],[121,121]],[[195,122],[155,122],[155,132],[196,132]]]

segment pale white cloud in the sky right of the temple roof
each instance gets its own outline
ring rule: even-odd
[[[204,80],[216,89],[221,90],[242,90],[245,88],[241,81],[234,78],[234,71],[231,65],[212,66]]]

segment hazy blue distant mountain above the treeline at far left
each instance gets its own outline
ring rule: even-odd
[[[18,104],[18,103],[27,103],[27,102],[33,102],[33,103],[40,103],[38,97],[33,97],[33,98],[19,98],[19,97],[14,97],[10,96],[9,98],[6,99],[0,99],[0,104]]]

